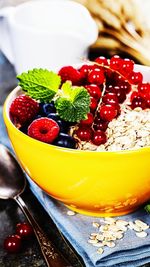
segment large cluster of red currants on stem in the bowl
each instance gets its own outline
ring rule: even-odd
[[[98,57],[92,65],[85,64],[77,70],[91,100],[88,118],[80,121],[76,130],[81,141],[91,141],[97,146],[106,143],[108,123],[120,114],[120,104],[126,100],[132,85],[137,92],[131,95],[131,108],[150,107],[150,84],[142,83],[142,74],[133,69],[132,60],[116,55],[109,61]]]

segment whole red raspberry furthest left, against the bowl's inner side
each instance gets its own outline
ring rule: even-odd
[[[21,126],[31,121],[39,111],[39,104],[27,95],[20,95],[15,98],[10,106],[10,116],[14,124]]]

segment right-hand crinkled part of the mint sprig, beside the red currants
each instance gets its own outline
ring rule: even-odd
[[[71,84],[66,82],[61,91],[61,95],[55,101],[60,118],[69,122],[86,119],[90,110],[90,96],[87,90],[84,87],[71,87]]]

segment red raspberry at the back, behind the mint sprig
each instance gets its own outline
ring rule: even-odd
[[[81,83],[81,73],[72,66],[61,68],[58,74],[61,76],[62,82],[69,80],[73,85],[79,85]]]

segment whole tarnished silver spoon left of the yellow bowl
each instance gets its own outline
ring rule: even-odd
[[[20,197],[20,194],[24,191],[25,186],[26,179],[20,165],[10,151],[0,144],[0,198],[11,198],[18,203],[33,227],[47,266],[70,267],[71,265],[68,261],[46,237],[38,223],[29,212],[23,199]]]

